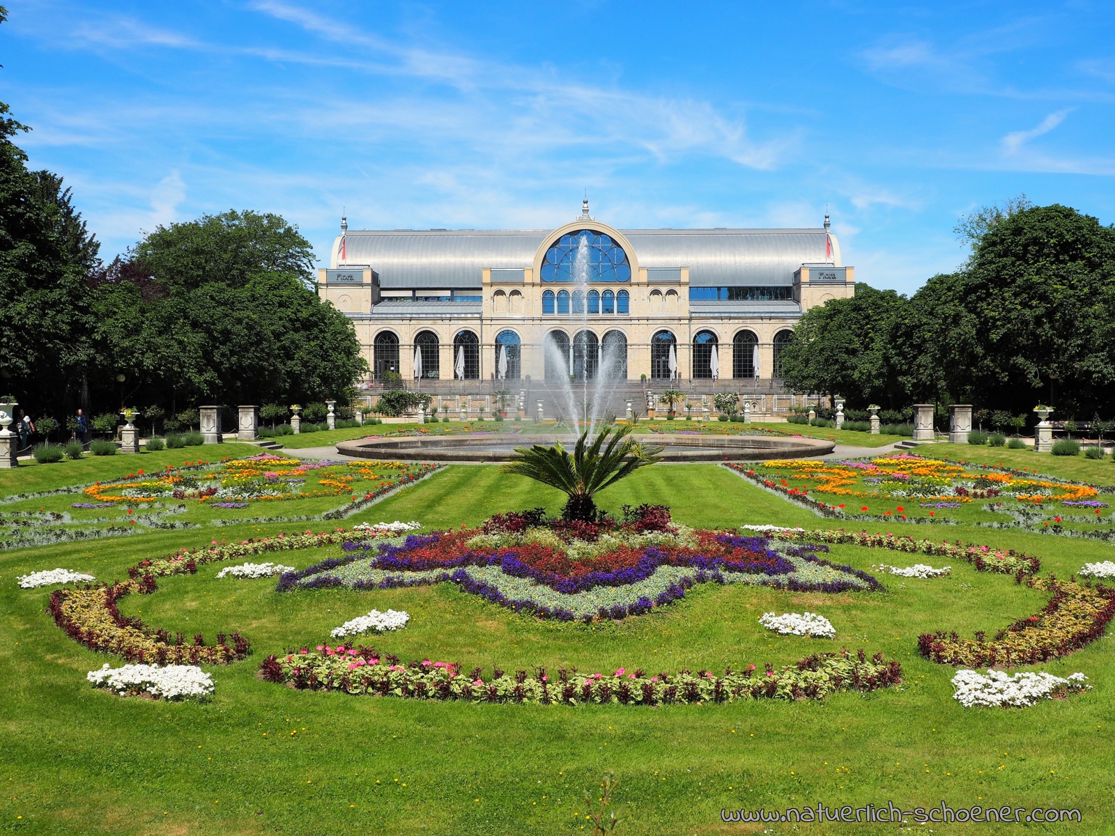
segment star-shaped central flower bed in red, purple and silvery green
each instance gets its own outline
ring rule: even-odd
[[[870,591],[879,582],[764,536],[675,526],[661,506],[629,509],[621,523],[545,522],[541,511],[493,517],[482,528],[411,535],[401,543],[349,543],[347,556],[281,577],[278,590],[389,589],[452,582],[515,611],[564,621],[622,619],[685,595],[696,583],[794,591]]]

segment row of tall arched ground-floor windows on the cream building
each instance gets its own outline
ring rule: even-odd
[[[563,291],[564,292],[564,291]],[[622,291],[621,291],[622,292]],[[789,330],[779,331],[774,337],[774,377],[782,377],[782,354],[793,338]],[[421,359],[421,377],[437,379],[442,375],[439,341],[433,331],[419,331],[415,337],[415,351]],[[650,340],[650,377],[669,380],[678,377],[678,340],[672,331],[658,331]],[[621,331],[608,331],[599,339],[592,331],[583,330],[570,340],[564,331],[551,331],[545,343],[545,376],[558,380],[573,376],[578,380],[593,380],[599,376],[618,380],[627,379],[628,343]],[[399,372],[399,338],[390,331],[380,331],[374,343],[372,371],[377,379],[387,372]],[[698,331],[694,337],[691,354],[691,377],[709,378],[757,378],[772,377],[769,370],[760,368],[758,337],[753,331],[741,330],[731,340],[731,346],[720,347],[719,339],[711,331]],[[501,331],[495,338],[495,362],[508,380],[522,377],[522,340],[514,331]],[[730,362],[730,373],[728,363]],[[501,370],[502,371],[502,370]],[[458,331],[453,338],[453,373],[449,377],[478,380],[481,376],[481,344],[473,331]]]

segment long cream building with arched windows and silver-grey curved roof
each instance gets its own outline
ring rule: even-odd
[[[357,232],[342,220],[318,282],[377,379],[430,388],[569,373],[777,385],[802,312],[854,288],[827,215],[815,230],[615,230],[588,201],[552,231]],[[607,372],[602,356],[615,358]]]

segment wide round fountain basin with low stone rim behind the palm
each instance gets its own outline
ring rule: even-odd
[[[757,461],[770,458],[811,458],[835,448],[820,438],[777,436],[699,436],[655,434],[638,436],[648,446],[662,445],[663,461]],[[561,441],[566,449],[576,444],[574,436],[517,435],[492,432],[468,436],[403,436],[399,438],[357,438],[340,441],[342,456],[420,461],[507,461],[516,447],[550,446]]]

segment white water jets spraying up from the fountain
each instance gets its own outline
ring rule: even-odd
[[[581,233],[571,270],[571,314],[580,317],[580,328],[568,347],[556,340],[545,340],[547,364],[558,371],[556,380],[546,380],[546,389],[559,404],[559,424],[573,435],[588,429],[590,438],[595,435],[604,415],[608,382],[615,380],[622,370],[618,352],[611,344],[590,339],[588,294],[592,278],[591,249],[589,234]]]

